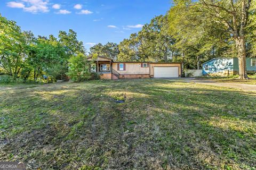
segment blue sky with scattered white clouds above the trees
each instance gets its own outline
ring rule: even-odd
[[[36,36],[73,29],[89,50],[94,43],[119,43],[170,7],[171,0],[1,0],[0,13]]]

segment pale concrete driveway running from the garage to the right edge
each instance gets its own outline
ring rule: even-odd
[[[206,84],[211,86],[219,86],[219,87],[229,87],[229,88],[236,88],[245,91],[256,91],[256,85],[252,84],[241,84],[241,83],[222,83],[213,80],[199,80],[196,78],[175,78],[175,79],[165,79],[170,81],[176,82],[194,82],[199,84]]]

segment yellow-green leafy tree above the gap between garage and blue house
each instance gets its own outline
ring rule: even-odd
[[[175,38],[174,48],[186,68],[200,69],[214,57],[234,55],[229,33],[213,22],[205,22],[199,6],[190,1],[175,1],[169,11],[169,32]]]

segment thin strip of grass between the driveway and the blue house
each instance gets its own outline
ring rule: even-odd
[[[256,84],[256,75],[249,75],[249,80],[239,80],[238,75],[234,77],[201,77],[198,79],[213,80],[223,83],[241,83],[241,84]]]

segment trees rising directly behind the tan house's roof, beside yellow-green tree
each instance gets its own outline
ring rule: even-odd
[[[119,61],[164,61],[174,56],[174,39],[168,32],[167,16],[156,16],[141,31],[119,44]]]

